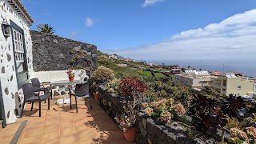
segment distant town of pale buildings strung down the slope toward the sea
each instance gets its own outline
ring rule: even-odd
[[[130,58],[123,58],[117,54],[111,54],[109,57],[101,55],[103,58],[120,59],[123,62],[139,62]],[[142,61],[141,61],[142,62]],[[218,71],[195,70],[193,67],[180,67],[178,65],[157,65],[152,62],[143,62],[150,67],[150,73],[158,71],[173,80],[186,86],[191,86],[194,90],[200,91],[204,86],[210,86],[220,95],[236,94],[242,98],[256,98],[256,78],[244,76],[239,72],[222,73]],[[126,67],[125,63],[118,63],[120,67]],[[147,71],[145,67],[142,70]],[[160,70],[160,71],[159,71]],[[254,100],[254,99],[253,99]]]

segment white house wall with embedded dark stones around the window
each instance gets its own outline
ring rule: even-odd
[[[13,9],[6,0],[0,0],[0,26],[2,25],[3,18],[8,23],[10,20],[24,30],[26,46],[26,58],[28,62],[29,75],[33,71],[32,66],[32,41],[30,36],[30,28],[26,21]],[[18,109],[20,114],[23,101],[22,90],[18,90],[16,71],[14,65],[14,50],[12,45],[12,37],[5,38],[0,31],[0,79],[2,84],[2,97],[6,113],[6,122],[15,122],[16,115],[14,110]]]

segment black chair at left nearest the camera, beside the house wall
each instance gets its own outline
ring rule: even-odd
[[[22,90],[24,94],[24,102],[22,105],[22,114],[26,102],[32,102],[31,111],[33,110],[34,102],[39,103],[39,117],[41,117],[41,102],[48,98],[48,110],[50,110],[50,91],[45,91],[44,95],[36,94],[34,91],[34,86],[32,83],[26,83],[22,85]],[[22,117],[21,114],[21,117]]]

